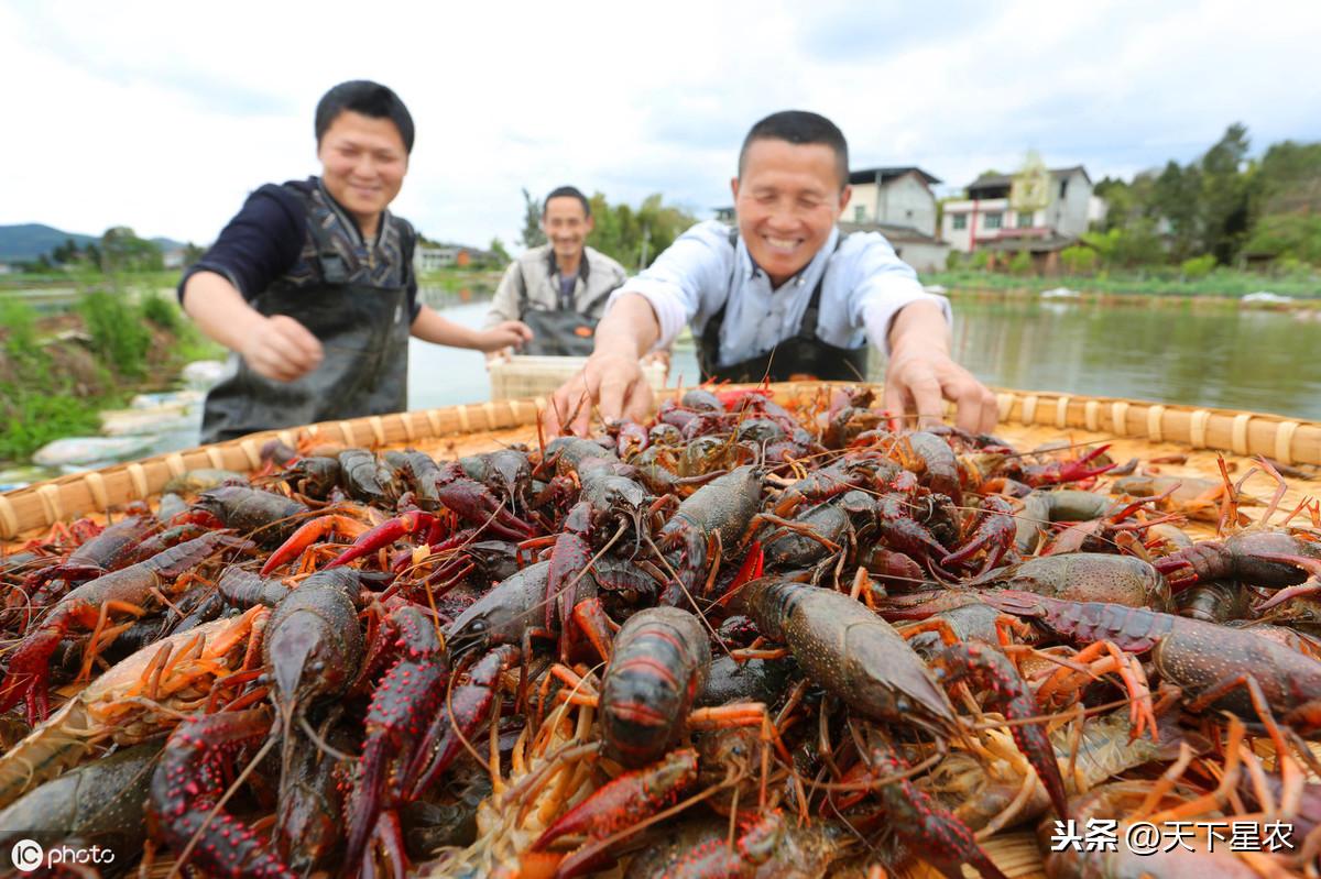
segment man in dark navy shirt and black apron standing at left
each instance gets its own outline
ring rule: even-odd
[[[413,124],[398,95],[347,82],[317,104],[322,174],[252,193],[180,282],[184,309],[232,351],[202,442],[407,408],[408,338],[482,351],[531,337],[476,331],[417,302],[416,234],[387,209]]]

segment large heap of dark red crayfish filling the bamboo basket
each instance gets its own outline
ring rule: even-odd
[[[1318,875],[1316,502],[1264,459],[1252,498],[873,404],[699,388],[452,461],[271,443],[57,525],[0,557],[0,850],[1000,879],[1017,828],[1050,876]],[[1058,845],[1094,822],[1192,830]]]

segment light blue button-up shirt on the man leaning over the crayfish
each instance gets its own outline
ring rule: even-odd
[[[951,319],[950,302],[922,289],[917,273],[894,255],[878,232],[847,236],[835,248],[839,228],[795,277],[773,290],[748,245],[729,242],[729,226],[699,223],[679,236],[657,261],[614,292],[638,293],[651,304],[660,322],[657,348],[674,342],[684,323],[701,335],[728,302],[720,329],[720,366],[765,354],[798,333],[816,281],[822,285],[816,335],[841,348],[861,347],[867,339],[886,350],[890,321],[905,305],[931,301]],[[609,310],[609,306],[606,306]]]

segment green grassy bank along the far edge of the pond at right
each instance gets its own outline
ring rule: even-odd
[[[1203,277],[1190,278],[1177,268],[1153,268],[1132,272],[1098,272],[1095,275],[1059,275],[1053,277],[1009,275],[978,269],[929,272],[923,284],[939,284],[951,290],[1024,290],[1040,293],[1066,286],[1079,293],[1112,293],[1172,297],[1231,297],[1238,298],[1268,290],[1279,296],[1321,301],[1321,277],[1310,271],[1269,276],[1256,272],[1219,268]]]

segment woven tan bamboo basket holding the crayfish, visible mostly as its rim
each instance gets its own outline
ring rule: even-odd
[[[517,358],[539,359],[543,358]],[[493,389],[495,375],[493,371]],[[660,380],[663,381],[663,375]],[[559,380],[550,383],[548,387],[557,387],[557,383]],[[655,385],[653,381],[653,387]],[[771,385],[771,391],[775,400],[783,404],[812,399],[828,387],[822,383],[783,383]],[[880,396],[878,385],[876,391]],[[659,391],[658,400],[680,393],[680,389]],[[1260,455],[1301,469],[1291,471],[1289,492],[1281,504],[1284,509],[1292,509],[1308,495],[1321,495],[1321,469],[1317,467],[1321,465],[1321,424],[1254,412],[1050,392],[1000,391],[997,396],[1001,424],[996,436],[1022,450],[1059,440],[1073,443],[1110,442],[1110,454],[1115,461],[1129,457],[1145,461],[1157,455],[1182,454],[1186,455],[1184,463],[1162,466],[1161,472],[1213,479],[1219,478],[1217,458],[1223,455],[1230,467],[1243,474],[1252,466],[1251,458]],[[280,440],[288,446],[317,442],[370,449],[411,446],[436,457],[472,454],[515,442],[535,443],[538,414],[546,405],[542,396],[498,399],[443,409],[322,422],[255,433],[229,442],[62,476],[0,494],[0,540],[26,540],[49,529],[55,521],[104,513],[133,500],[152,500],[169,479],[188,470],[256,470],[262,446],[271,440]],[[1267,494],[1264,482],[1254,486],[1258,487],[1255,494]],[[984,841],[982,847],[1011,879],[1045,876],[1041,854],[1029,830],[997,834]],[[902,875],[908,879],[941,879],[941,874],[923,862],[910,863]]]

